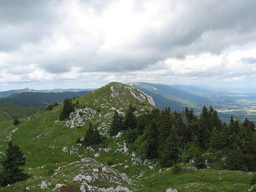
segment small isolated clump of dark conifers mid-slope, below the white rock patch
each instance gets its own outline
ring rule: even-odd
[[[93,129],[92,124],[89,124],[89,128],[84,136],[84,145],[96,145],[101,142],[100,133],[97,129]]]

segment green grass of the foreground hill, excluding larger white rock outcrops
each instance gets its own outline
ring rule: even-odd
[[[99,145],[92,146],[95,151],[90,151],[84,146],[76,146],[76,138],[78,136],[80,138],[84,136],[90,122],[97,125],[97,127],[104,127],[104,122],[110,123],[111,116],[114,112],[110,108],[116,107],[119,109],[127,107],[130,101],[136,104],[137,108],[152,108],[146,103],[138,102],[133,96],[130,97],[128,89],[124,89],[123,86],[118,88],[119,84],[117,84],[118,86],[115,89],[119,89],[119,92],[126,93],[120,94],[116,98],[109,97],[112,93],[110,87],[113,85],[115,84],[107,85],[104,89],[96,90],[76,99],[79,100],[78,107],[80,108],[91,106],[94,110],[98,108],[101,110],[94,115],[92,121],[87,120],[81,128],[75,127],[71,129],[65,126],[65,121],[55,123],[58,120],[62,105],[53,108],[52,111],[38,112],[34,116],[31,116],[29,120],[28,118],[21,118],[19,119],[21,123],[17,126],[13,125],[12,120],[1,122],[0,152],[5,151],[8,145],[8,138],[11,137],[11,141],[14,144],[18,144],[27,156],[25,172],[30,172],[31,174],[30,180],[17,182],[9,188],[4,187],[4,191],[24,191],[27,186],[33,188],[33,186],[41,184],[43,180],[52,183],[50,189],[53,189],[56,183],[67,185],[74,183],[73,178],[77,174],[84,172],[84,174],[92,175],[92,168],[101,166],[95,162],[86,164],[79,162],[69,165],[69,163],[79,161],[84,157],[95,158],[99,163],[103,163],[104,166],[107,166],[105,162],[109,159],[112,160],[112,164],[118,165],[124,163],[112,168],[112,170],[116,173],[118,171],[125,172],[133,180],[135,185],[131,186],[123,182],[122,186],[127,186],[133,191],[134,189],[152,192],[166,191],[167,188],[176,188],[179,192],[197,190],[212,191],[214,189],[219,191],[247,191],[248,188],[251,188],[249,179],[252,176],[247,175],[247,172],[217,170],[214,164],[210,165],[211,169],[207,170],[186,170],[174,174],[171,170],[167,171],[165,168],[163,172],[159,173],[158,171],[161,166],[157,163],[157,159],[148,161],[143,165],[132,160],[132,156],[129,153],[118,151],[124,148],[123,136],[120,138],[106,137]],[[73,100],[73,102],[76,103],[76,100]],[[125,108],[123,111],[125,111]],[[105,127],[108,127],[108,125]],[[102,131],[102,129],[100,130]],[[67,149],[63,149],[64,147],[67,147]],[[99,148],[109,148],[109,151],[100,150],[100,157],[94,157],[95,154],[99,153]],[[128,152],[131,153],[131,151]],[[125,165],[129,165],[130,167],[124,168]],[[149,168],[152,165],[154,166],[154,170]],[[41,168],[42,166],[44,167]],[[56,175],[48,172],[50,167],[55,170]],[[60,167],[60,170],[58,170],[58,167]],[[106,172],[105,174],[110,173]],[[142,176],[140,177],[140,175]],[[119,176],[117,178],[116,180],[120,179]],[[192,183],[193,186],[191,186]],[[112,185],[116,187],[118,184],[113,184],[103,178],[99,178],[91,185],[108,188]],[[189,188],[185,189],[187,186]]]

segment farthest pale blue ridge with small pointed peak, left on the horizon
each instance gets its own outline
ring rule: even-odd
[[[1,91],[0,92],[0,98],[8,97],[9,95],[12,95],[13,93],[22,93],[22,92],[39,92],[39,93],[48,93],[48,92],[81,92],[81,91],[93,91],[95,89],[52,89],[52,90],[34,90],[29,89],[28,87],[24,89],[15,89],[10,91]]]

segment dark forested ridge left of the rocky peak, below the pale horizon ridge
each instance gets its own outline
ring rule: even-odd
[[[6,98],[0,98],[0,102],[7,101],[16,105],[31,107],[34,105],[50,105],[55,102],[62,103],[65,98],[80,97],[90,91],[81,92],[21,92],[14,93]]]

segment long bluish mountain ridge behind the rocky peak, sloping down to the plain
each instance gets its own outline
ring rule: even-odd
[[[190,92],[180,89],[179,86],[152,84],[152,83],[127,83],[128,85],[140,89],[142,92],[152,96],[156,107],[164,109],[170,106],[172,111],[182,111],[182,108],[188,106],[199,113],[204,105],[209,105],[209,100]]]

